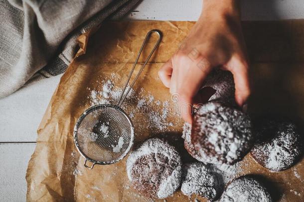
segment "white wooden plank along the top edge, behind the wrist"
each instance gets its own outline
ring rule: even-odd
[[[303,19],[303,0],[242,0],[243,20]],[[128,19],[195,21],[202,0],[142,0]]]

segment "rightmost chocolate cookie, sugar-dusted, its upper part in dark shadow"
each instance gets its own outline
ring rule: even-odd
[[[292,167],[302,154],[302,140],[295,124],[284,120],[263,119],[257,124],[258,141],[251,156],[271,171]]]

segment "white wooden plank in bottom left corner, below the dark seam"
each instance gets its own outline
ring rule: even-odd
[[[0,202],[25,202],[27,163],[35,143],[0,144]]]

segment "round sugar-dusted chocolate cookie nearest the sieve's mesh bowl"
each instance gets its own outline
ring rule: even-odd
[[[135,190],[164,199],[180,185],[181,159],[173,146],[158,138],[148,139],[129,155],[127,174]]]

